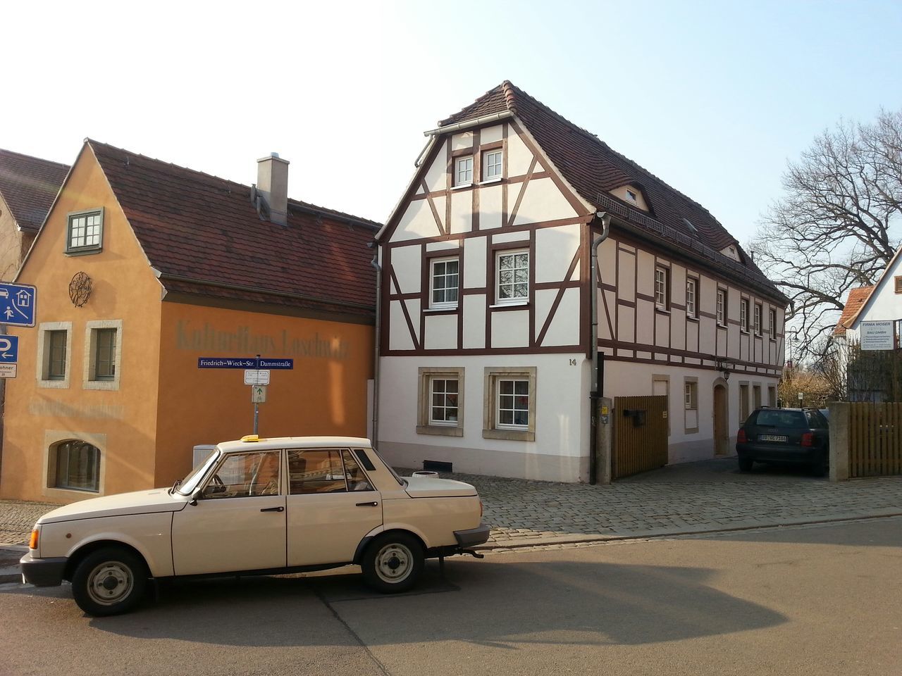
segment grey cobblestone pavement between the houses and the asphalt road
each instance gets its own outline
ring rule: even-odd
[[[759,465],[746,474],[734,458],[671,465],[609,486],[441,476],[479,489],[494,548],[902,515],[902,477],[830,483]],[[0,544],[27,542],[34,521],[53,507],[0,500]]]

